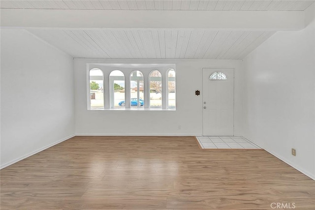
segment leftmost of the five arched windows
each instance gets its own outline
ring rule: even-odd
[[[100,69],[90,70],[90,109],[104,108],[104,75]]]

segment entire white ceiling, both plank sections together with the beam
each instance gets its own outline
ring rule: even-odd
[[[312,3],[1,0],[0,7],[1,26],[26,29],[73,57],[242,59],[276,31],[303,28]]]

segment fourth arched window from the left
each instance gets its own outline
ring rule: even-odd
[[[162,75],[158,70],[151,72],[150,107],[162,107]]]

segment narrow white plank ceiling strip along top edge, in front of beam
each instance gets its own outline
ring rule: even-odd
[[[0,8],[300,11],[314,0],[1,0]]]

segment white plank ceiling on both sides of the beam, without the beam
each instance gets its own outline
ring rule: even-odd
[[[1,8],[301,11],[314,0],[1,0]],[[242,59],[276,31],[186,28],[26,28],[73,57]]]

